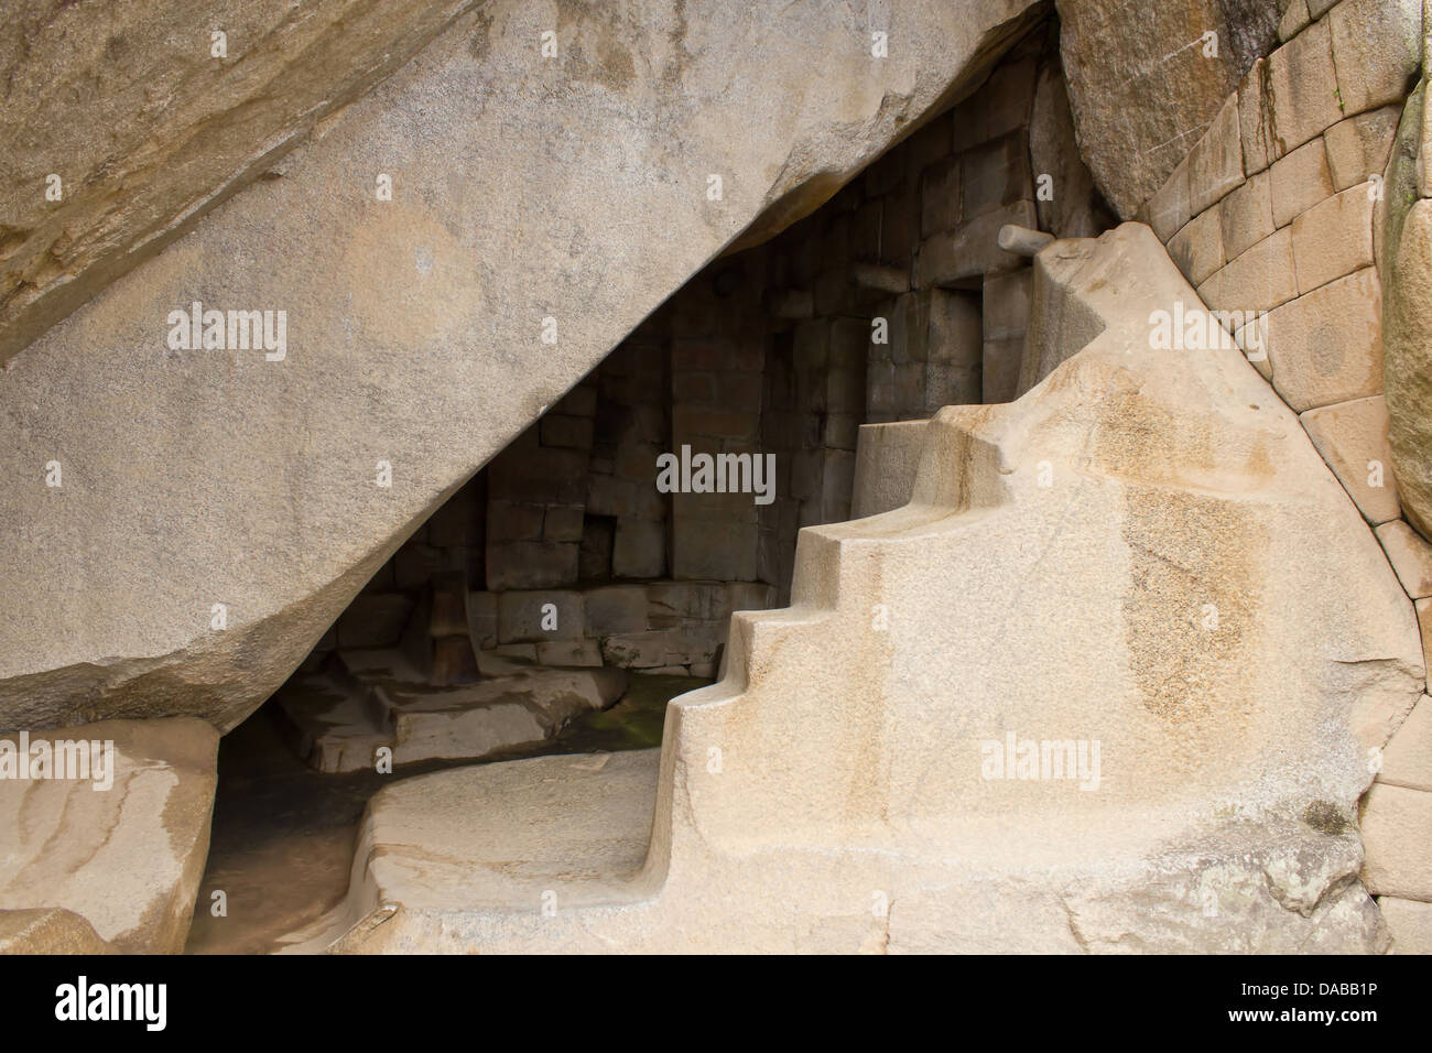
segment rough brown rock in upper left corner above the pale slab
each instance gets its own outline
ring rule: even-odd
[[[9,4],[0,362],[261,178],[474,6]]]

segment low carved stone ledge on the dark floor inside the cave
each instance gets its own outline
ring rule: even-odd
[[[384,746],[395,765],[477,761],[556,736],[576,716],[613,705],[627,683],[619,669],[491,669],[473,683],[434,685],[407,649],[337,652],[279,691],[282,725],[322,772],[368,768]]]

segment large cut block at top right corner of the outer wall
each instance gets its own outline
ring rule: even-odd
[[[1402,102],[1422,64],[1422,0],[1343,0],[1327,23],[1343,110]]]

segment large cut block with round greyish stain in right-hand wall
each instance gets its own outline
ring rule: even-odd
[[[1382,285],[1376,269],[1339,278],[1272,311],[1267,354],[1273,387],[1297,413],[1380,394]]]

